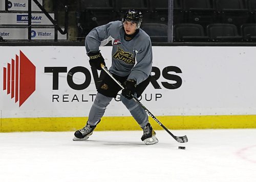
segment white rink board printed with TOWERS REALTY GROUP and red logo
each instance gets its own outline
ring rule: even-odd
[[[111,49],[101,47],[108,67]],[[156,116],[255,115],[254,49],[153,47],[155,80],[143,92],[141,102]],[[88,116],[97,93],[99,71],[91,70],[84,47],[3,46],[0,54],[0,75],[6,75],[0,79],[3,118]],[[22,76],[19,79],[17,61],[18,75]],[[130,113],[117,96],[105,116]]]

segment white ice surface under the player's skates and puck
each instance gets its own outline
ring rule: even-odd
[[[0,133],[0,181],[256,181],[256,129]],[[178,149],[185,146],[186,149]]]

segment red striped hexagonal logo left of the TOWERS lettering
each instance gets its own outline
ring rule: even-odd
[[[15,103],[19,101],[19,107],[35,91],[35,66],[20,50],[19,57],[7,63],[4,67],[4,90],[15,97]]]

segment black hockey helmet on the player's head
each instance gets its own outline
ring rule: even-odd
[[[129,9],[123,16],[122,22],[124,21],[132,21],[137,23],[137,29],[139,29],[142,22],[142,13],[139,10]]]

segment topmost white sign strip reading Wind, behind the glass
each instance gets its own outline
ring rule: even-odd
[[[42,0],[37,0],[40,5],[42,5]],[[41,11],[40,8],[31,1],[32,11]],[[0,11],[5,10],[5,0],[0,1]],[[28,0],[8,0],[8,10],[9,11],[28,11]]]

